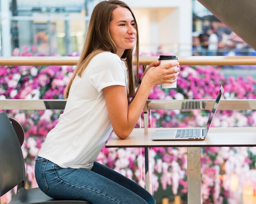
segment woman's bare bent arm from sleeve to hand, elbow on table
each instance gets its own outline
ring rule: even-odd
[[[148,95],[154,85],[163,83],[173,83],[177,80],[179,67],[168,69],[178,65],[177,62],[165,64],[158,67],[151,67],[141,82],[136,96],[128,106],[126,90],[124,86],[108,86],[103,89],[108,114],[114,132],[121,139],[125,139],[130,135],[135,127],[141,111],[144,108]],[[174,78],[173,80],[169,80]]]

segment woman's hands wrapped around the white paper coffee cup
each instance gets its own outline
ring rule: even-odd
[[[154,64],[155,63],[155,64]],[[180,73],[180,65],[179,62],[172,62],[164,65],[159,65],[158,62],[153,62],[151,67],[147,70],[145,73],[143,80],[141,80],[141,83],[146,83],[147,85],[153,86],[159,85],[159,84],[172,84],[175,81],[177,81],[177,76]],[[154,66],[156,65],[156,66]],[[171,67],[175,67],[172,68]]]

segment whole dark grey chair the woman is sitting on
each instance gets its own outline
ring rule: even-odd
[[[9,204],[91,204],[89,201],[55,200],[39,188],[26,189],[25,163],[20,148],[23,141],[22,126],[9,119],[5,112],[0,113],[0,197],[18,185],[17,194]]]

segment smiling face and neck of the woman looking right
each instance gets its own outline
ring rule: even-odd
[[[135,21],[129,9],[117,7],[112,11],[112,20],[109,24],[110,35],[117,45],[117,55],[121,58],[126,49],[135,45],[137,31]]]

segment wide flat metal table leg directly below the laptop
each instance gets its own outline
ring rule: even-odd
[[[201,148],[188,147],[188,204],[201,203]]]

